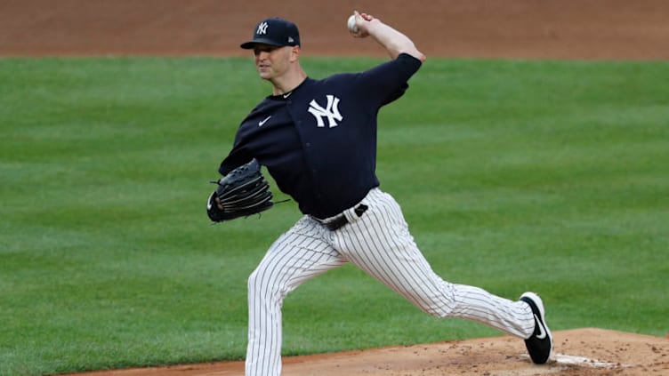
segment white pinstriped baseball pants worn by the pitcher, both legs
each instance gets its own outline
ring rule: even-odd
[[[535,320],[528,304],[478,287],[450,284],[435,274],[415,245],[392,196],[374,188],[362,217],[349,209],[349,224],[330,231],[304,216],[271,245],[248,279],[246,376],[281,373],[281,306],[297,286],[351,262],[437,317],[461,317],[528,338]],[[357,205],[356,205],[357,206]]]

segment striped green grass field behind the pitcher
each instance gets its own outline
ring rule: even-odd
[[[382,188],[445,279],[539,292],[553,330],[664,336],[667,82],[665,62],[428,60],[382,111]],[[300,213],[212,226],[205,204],[269,90],[249,60],[0,60],[0,374],[243,358],[246,277]],[[500,334],[352,267],[288,296],[284,328],[286,355]]]

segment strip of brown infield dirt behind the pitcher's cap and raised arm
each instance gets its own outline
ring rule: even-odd
[[[3,0],[0,56],[248,56],[239,44],[273,16],[297,23],[304,55],[385,56],[349,36],[354,9],[428,57],[669,59],[665,0]]]

